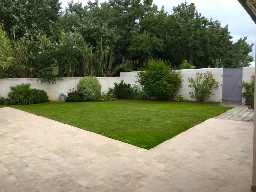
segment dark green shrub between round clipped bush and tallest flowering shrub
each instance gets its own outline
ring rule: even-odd
[[[121,80],[120,83],[114,83],[114,88],[109,89],[108,93],[113,93],[116,98],[128,98],[128,92],[131,88],[130,84],[124,83],[124,80]]]

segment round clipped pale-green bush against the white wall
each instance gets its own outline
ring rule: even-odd
[[[79,80],[77,90],[82,94],[84,101],[96,101],[100,98],[101,85],[96,77],[88,76]]]

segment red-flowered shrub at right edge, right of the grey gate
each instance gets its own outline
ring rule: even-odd
[[[245,98],[245,103],[249,104],[250,109],[254,109],[254,82],[255,82],[255,76],[251,76],[251,82],[242,83],[242,86],[245,88],[245,92],[242,93],[242,96]]]

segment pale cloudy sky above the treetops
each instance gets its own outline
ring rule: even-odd
[[[67,0],[59,0],[62,3],[62,7],[68,6]],[[92,2],[94,0],[91,0]],[[74,0],[78,2],[78,0]],[[87,4],[87,0],[80,0],[83,5]],[[99,0],[99,2],[104,2]],[[164,10],[172,11],[173,6],[181,4],[184,0],[154,0],[154,3],[160,10],[164,6]],[[197,11],[202,13],[203,16],[213,20],[221,21],[221,25],[224,27],[228,25],[231,36],[233,36],[233,42],[236,42],[240,37],[247,36],[247,43],[255,44],[256,27],[251,17],[244,10],[242,5],[237,0],[191,0],[187,1],[188,4],[194,3]],[[250,53],[255,57],[255,45],[253,51]]]

